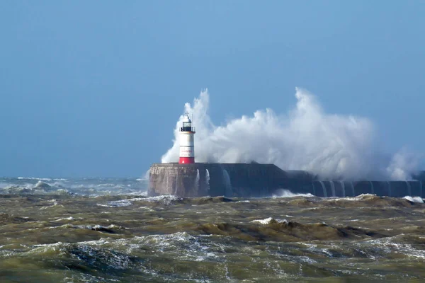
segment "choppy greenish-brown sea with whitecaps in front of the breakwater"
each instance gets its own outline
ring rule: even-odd
[[[0,282],[423,282],[420,197],[147,197],[0,178]]]

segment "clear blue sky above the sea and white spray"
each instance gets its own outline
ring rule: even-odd
[[[1,1],[0,175],[140,176],[208,88],[216,125],[295,86],[424,146],[424,1]]]

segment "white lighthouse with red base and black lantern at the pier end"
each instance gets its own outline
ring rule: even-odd
[[[186,112],[183,118],[183,127],[180,128],[180,164],[195,163],[194,134],[195,128],[192,127],[192,121]]]

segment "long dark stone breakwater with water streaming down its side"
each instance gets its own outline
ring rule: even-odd
[[[425,196],[425,174],[415,180],[320,180],[306,171],[283,171],[259,163],[154,163],[149,173],[148,195],[179,197],[267,197],[281,190],[318,197],[354,197],[361,194],[404,197]]]

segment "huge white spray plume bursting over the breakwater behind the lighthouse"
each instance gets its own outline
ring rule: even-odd
[[[407,180],[415,170],[417,160],[406,150],[393,156],[380,152],[375,127],[367,118],[328,114],[302,88],[296,88],[295,98],[295,108],[287,114],[267,108],[217,127],[208,116],[208,90],[201,91],[184,109],[196,119],[196,162],[274,163],[284,170],[345,180]],[[176,123],[174,144],[162,156],[163,163],[179,160],[182,119]]]

